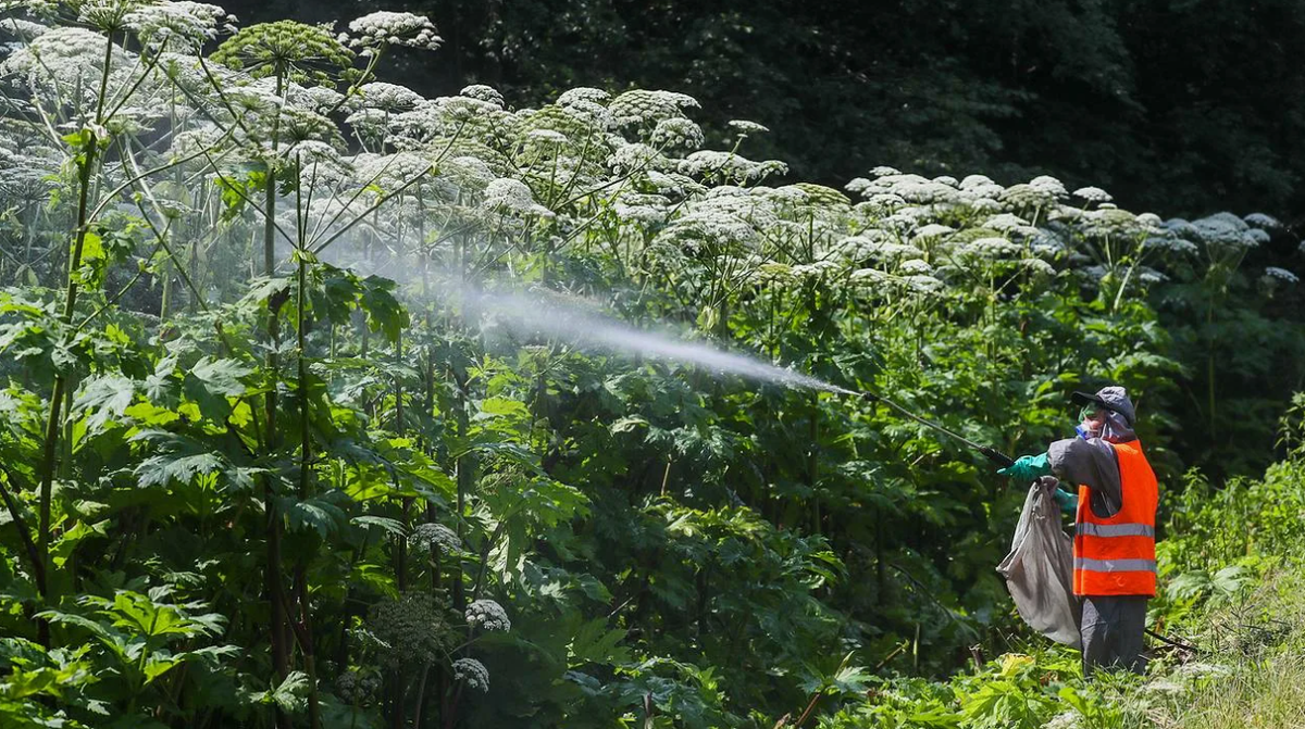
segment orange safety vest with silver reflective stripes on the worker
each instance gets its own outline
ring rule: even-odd
[[[1124,506],[1101,519],[1092,513],[1092,489],[1078,486],[1074,529],[1074,595],[1155,596],[1155,472],[1142,443],[1111,443],[1120,463]]]

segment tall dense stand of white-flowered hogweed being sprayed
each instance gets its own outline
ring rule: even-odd
[[[1011,520],[954,443],[590,351],[518,295],[1009,447],[1094,372],[1163,417],[1184,364],[1148,301],[1276,235],[1047,176],[786,184],[763,126],[711,149],[673,91],[424,98],[377,77],[438,48],[410,13],[4,8],[3,717],[775,725],[861,685],[805,653],[860,676],[910,636],[946,669],[1009,619],[990,539],[933,546]]]

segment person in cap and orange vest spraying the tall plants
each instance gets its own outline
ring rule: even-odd
[[[1083,403],[1078,437],[1024,455],[998,473],[1028,483],[1054,476],[1078,485],[1074,509],[1074,595],[1082,599],[1083,674],[1096,666],[1146,672],[1142,638],[1155,596],[1155,472],[1134,433],[1137,411],[1124,387],[1074,393]]]

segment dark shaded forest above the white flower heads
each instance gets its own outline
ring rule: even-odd
[[[241,21],[326,22],[361,1],[232,0]],[[424,95],[489,83],[530,106],[586,85],[683,91],[723,136],[767,125],[793,179],[877,164],[1049,173],[1165,216],[1305,222],[1300,0],[441,0],[436,55],[386,78]],[[752,147],[754,151],[758,147]]]

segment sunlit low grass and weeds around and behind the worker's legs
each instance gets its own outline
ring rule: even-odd
[[[1041,639],[946,682],[876,679],[822,729],[1054,728],[1223,729],[1305,725],[1305,463],[1212,489],[1189,473],[1168,510],[1154,630],[1190,644],[1151,643],[1144,677],[1084,681],[1078,652]],[[1219,535],[1219,539],[1215,539]],[[981,665],[980,665],[981,662]]]

